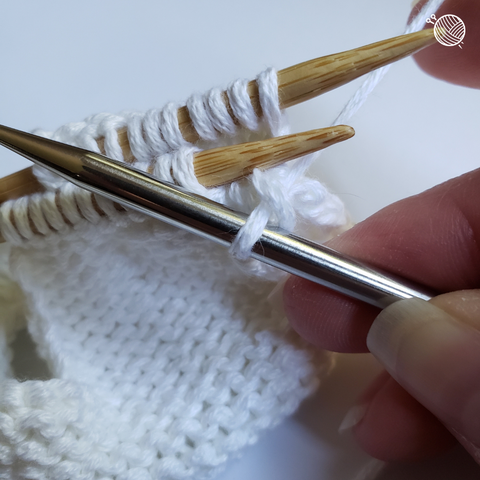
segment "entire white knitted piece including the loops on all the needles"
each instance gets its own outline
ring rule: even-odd
[[[268,220],[325,238],[345,223],[341,202],[303,175],[306,160],[208,190],[193,175],[199,148],[286,133],[276,73],[258,83],[265,121],[243,81],[228,89],[239,125],[220,90],[187,101],[196,146],[180,135],[176,105],[44,133],[90,150],[103,136],[121,160],[115,132],[127,126],[136,167],[253,213],[229,252],[39,169],[46,193],[2,205],[10,271],[51,379],[11,378],[16,301],[1,312],[0,478],[204,478],[317,387],[327,356],[266,301],[278,271],[239,259]]]

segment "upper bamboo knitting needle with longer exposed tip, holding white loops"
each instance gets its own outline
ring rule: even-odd
[[[435,42],[433,30],[422,30],[346,52],[316,58],[280,70],[278,72],[280,107],[287,108],[314,98],[377,68],[405,58]],[[248,84],[248,94],[255,112],[258,116],[262,116],[255,80]],[[230,115],[234,118],[226,93],[224,93],[224,99]],[[178,110],[178,124],[187,141],[195,143],[199,139],[185,106]],[[128,143],[126,129],[118,131],[118,139],[125,161],[133,163],[134,158]],[[99,138],[97,143],[100,150],[105,152],[104,139]],[[221,183],[228,183],[235,179],[236,177],[225,178]],[[0,179],[0,203],[10,198],[18,198],[42,190],[43,188],[35,180],[31,169],[24,169]]]

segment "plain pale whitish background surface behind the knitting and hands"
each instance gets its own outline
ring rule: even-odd
[[[410,0],[8,2],[0,16],[0,123],[54,130],[102,111],[181,102],[266,66],[281,69],[400,34],[409,9]],[[357,85],[290,109],[293,129],[328,126]],[[326,151],[315,172],[362,220],[478,166],[478,112],[478,91],[427,77],[404,60],[351,120],[356,137]],[[0,152],[0,176],[28,165]],[[336,429],[376,368],[367,356],[342,357],[314,399],[218,480],[353,478],[367,457]],[[477,467],[458,454],[395,467],[381,478],[474,476]]]

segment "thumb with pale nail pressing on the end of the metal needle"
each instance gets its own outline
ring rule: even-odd
[[[480,290],[396,302],[367,345],[480,463]]]

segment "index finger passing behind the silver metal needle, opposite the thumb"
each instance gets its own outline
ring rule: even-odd
[[[439,293],[480,287],[480,169],[401,200],[328,245]],[[379,310],[304,279],[285,284],[285,313],[307,341],[367,351]]]

